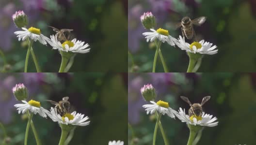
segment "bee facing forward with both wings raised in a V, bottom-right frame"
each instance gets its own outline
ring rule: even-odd
[[[191,103],[189,101],[189,99],[187,97],[184,97],[184,96],[180,96],[180,98],[187,102],[191,107],[189,109],[189,116],[202,116],[202,112],[203,112],[203,109],[202,109],[202,106],[205,104],[205,102],[207,102],[208,100],[210,100],[210,96],[206,96],[203,98],[201,104],[199,103]]]

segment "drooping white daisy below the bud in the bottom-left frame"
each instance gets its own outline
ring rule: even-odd
[[[47,114],[49,113],[48,110],[44,109],[43,107],[41,107],[40,102],[31,100],[29,102],[26,102],[24,100],[22,100],[23,104],[15,104],[14,106],[17,108],[18,113],[20,114],[22,112],[22,114],[24,114],[27,110],[29,110],[30,112],[32,112],[33,114],[39,114],[42,117],[47,117]]]

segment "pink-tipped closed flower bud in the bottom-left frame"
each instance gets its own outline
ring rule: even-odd
[[[16,100],[26,100],[28,98],[28,89],[24,86],[24,84],[16,84],[15,87],[13,87],[13,93],[16,97]]]

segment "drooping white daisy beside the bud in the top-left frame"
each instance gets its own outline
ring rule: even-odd
[[[31,38],[33,41],[39,41],[40,43],[47,45],[47,41],[49,40],[48,37],[44,36],[43,34],[41,34],[41,30],[31,27],[29,29],[26,28],[21,28],[23,29],[23,31],[16,31],[14,32],[17,37],[18,37],[18,41],[22,40],[26,40],[26,38]]]

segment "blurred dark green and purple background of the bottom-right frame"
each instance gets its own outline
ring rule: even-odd
[[[178,110],[190,106],[179,96],[186,96],[192,103],[203,97],[211,99],[204,104],[207,114],[216,116],[216,127],[205,127],[197,145],[254,145],[256,142],[256,73],[129,73],[128,75],[128,142],[133,145],[152,145],[156,123],[154,116],[146,115],[140,88],[151,83],[157,99],[169,102]],[[170,145],[186,145],[189,129],[179,119],[162,116],[161,122]],[[134,137],[132,132],[134,131]],[[129,144],[131,145],[131,144]],[[156,145],[164,145],[160,130]]]

